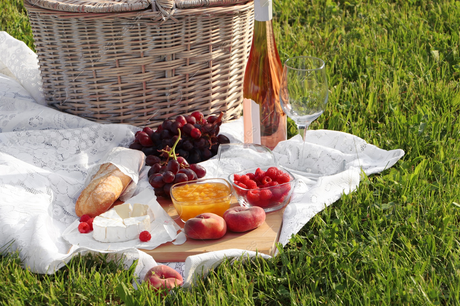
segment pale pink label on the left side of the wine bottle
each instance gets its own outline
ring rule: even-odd
[[[244,142],[260,145],[260,107],[251,99],[243,99]]]

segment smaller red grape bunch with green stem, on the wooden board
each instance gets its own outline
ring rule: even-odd
[[[177,183],[184,183],[206,175],[206,169],[197,164],[191,164],[184,157],[177,156],[175,149],[180,139],[180,129],[178,129],[179,138],[176,139],[170,150],[161,150],[161,156],[166,160],[161,161],[159,156],[149,155],[145,163],[150,167],[147,173],[149,183],[155,191],[155,195],[165,198],[171,197],[171,186]]]

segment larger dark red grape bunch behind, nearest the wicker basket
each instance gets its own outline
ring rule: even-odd
[[[230,143],[226,136],[219,134],[223,115],[221,112],[219,117],[209,116],[206,119],[201,111],[194,111],[191,115],[177,116],[175,121],[167,119],[156,131],[144,128],[142,132],[136,132],[129,148],[142,150],[146,156],[161,158],[164,151],[169,152],[177,142],[177,155],[188,163],[206,161],[217,154],[219,144]]]

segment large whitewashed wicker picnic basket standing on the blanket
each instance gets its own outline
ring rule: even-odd
[[[25,0],[49,105],[156,127],[242,111],[253,29],[247,0]]]

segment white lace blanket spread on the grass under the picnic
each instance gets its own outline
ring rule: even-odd
[[[0,32],[0,247],[19,250],[24,267],[32,271],[53,273],[74,254],[92,251],[68,245],[61,233],[77,218],[75,201],[90,167],[111,148],[128,146],[138,128],[98,124],[44,106],[40,86],[35,54],[24,43]],[[223,124],[221,131],[232,141],[242,140],[241,121]],[[317,182],[298,179],[284,212],[283,245],[342,192],[357,188],[361,169],[367,174],[383,171],[404,154],[403,150],[381,150],[358,137],[334,131],[309,131],[307,139],[306,161],[323,176]],[[295,137],[276,147],[281,164],[296,167],[299,144],[300,138]],[[136,194],[150,188],[146,168]],[[151,256],[136,249],[127,249],[124,254],[126,265],[139,259],[138,277],[156,265]],[[185,266],[169,265],[184,273],[190,284],[195,270],[204,267],[206,271],[224,255],[241,254],[242,250],[213,252],[190,256]]]

